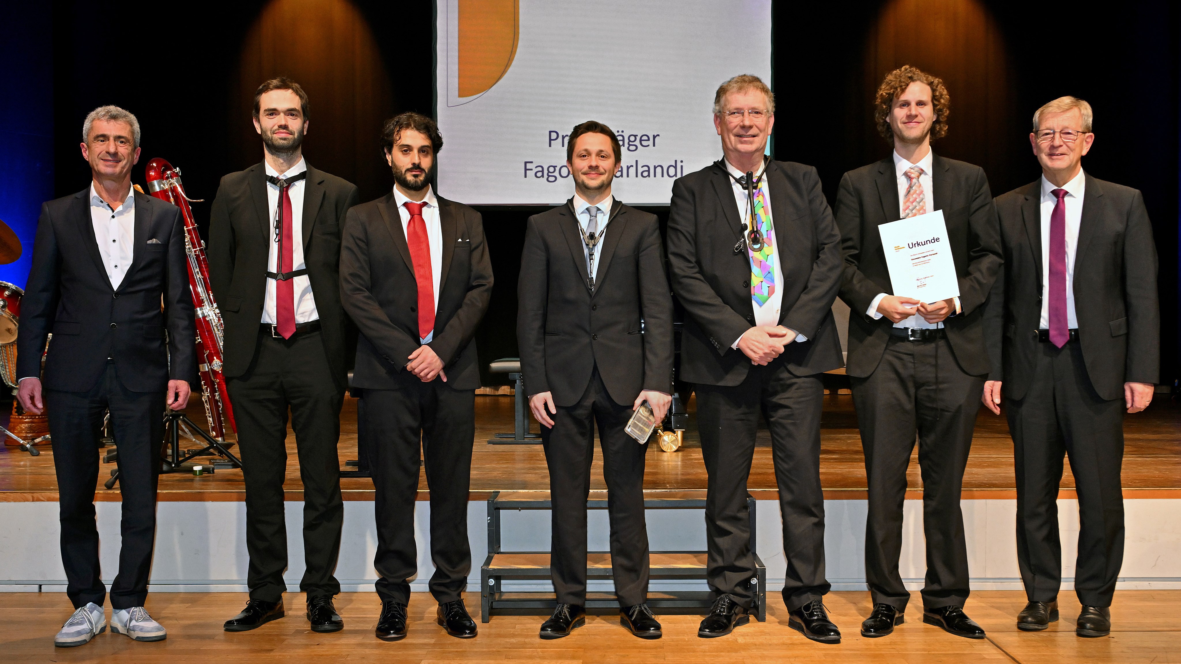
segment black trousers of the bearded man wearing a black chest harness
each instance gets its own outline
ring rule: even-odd
[[[320,332],[291,339],[259,333],[254,362],[227,382],[237,423],[242,479],[246,481],[246,551],[250,555],[250,598],[278,601],[287,588],[287,525],[283,479],[287,474],[287,409],[292,414],[300,479],[304,481],[304,560],[300,590],[335,594],[333,575],[340,552],[345,506],[340,499],[340,406]]]

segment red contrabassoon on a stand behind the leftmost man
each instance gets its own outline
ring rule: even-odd
[[[193,219],[193,208],[181,184],[181,169],[157,157],[148,162],[148,193],[181,208],[184,217],[184,249],[189,256],[189,287],[193,291],[193,306],[196,310],[197,324],[197,372],[201,375],[202,395],[205,415],[209,417],[209,432],[218,441],[226,440],[226,423],[234,431],[234,410],[226,391],[226,377],[222,376],[222,318],[217,302],[209,291],[209,261],[205,260],[205,243],[197,232],[197,222]],[[195,201],[200,202],[200,201]]]

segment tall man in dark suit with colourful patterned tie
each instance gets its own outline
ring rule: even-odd
[[[841,366],[831,313],[840,235],[816,169],[763,157],[775,98],[762,80],[722,84],[713,125],[724,158],[677,180],[668,214],[672,287],[689,314],[680,371],[697,391],[709,473],[707,574],[717,599],[698,636],[720,637],[750,621],[746,477],[763,412],[779,487],[789,625],[840,643],[822,601],[830,586],[820,486],[820,373]]]

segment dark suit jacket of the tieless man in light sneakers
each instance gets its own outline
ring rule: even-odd
[[[52,332],[43,378],[50,390],[92,389],[107,358],[133,392],[163,392],[170,379],[196,388],[181,209],[137,191],[133,237],[131,267],[112,288],[94,239],[90,188],[41,206],[20,302],[18,378],[41,375],[41,351]]]

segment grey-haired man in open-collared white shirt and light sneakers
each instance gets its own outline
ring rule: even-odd
[[[92,182],[41,206],[17,340],[17,398],[31,412],[48,408],[53,436],[61,564],[76,608],[54,637],[64,647],[106,629],[94,526],[104,410],[119,444],[123,495],[111,631],[135,640],[167,637],[143,607],[156,539],[162,414],[165,398],[172,410],[189,401],[196,343],[181,210],[131,188],[139,122],[118,106],[102,106],[86,116],[83,141]],[[50,333],[43,395],[41,351]]]

